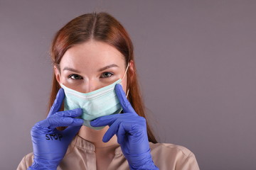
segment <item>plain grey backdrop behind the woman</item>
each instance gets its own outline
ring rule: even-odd
[[[201,169],[256,169],[256,1],[0,1],[0,169],[32,152],[46,118],[55,32],[107,11],[134,42],[160,142],[191,149]],[[171,158],[170,158],[171,159]]]

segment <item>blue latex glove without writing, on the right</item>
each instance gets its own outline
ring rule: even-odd
[[[130,169],[158,169],[151,158],[145,118],[134,111],[120,84],[115,86],[115,91],[124,113],[102,116],[93,120],[90,125],[110,126],[102,141],[108,142],[113,135],[117,135],[117,142]]]

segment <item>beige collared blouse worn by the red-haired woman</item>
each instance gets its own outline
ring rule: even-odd
[[[154,164],[163,170],[198,170],[198,163],[195,155],[186,147],[166,143],[151,143],[151,156]],[[114,150],[114,159],[110,163],[108,170],[129,169],[129,164],[122,154],[121,147]],[[21,160],[17,170],[28,169],[33,162],[33,153],[27,154]],[[65,157],[60,162],[57,170],[68,169],[89,169],[96,170],[95,146],[87,140],[76,136],[68,147]]]

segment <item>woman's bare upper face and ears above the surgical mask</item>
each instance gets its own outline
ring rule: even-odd
[[[129,64],[133,72],[133,62]],[[70,47],[60,60],[60,72],[54,67],[59,83],[81,93],[95,91],[122,79],[126,68],[124,57],[116,48],[95,40]],[[127,74],[122,87],[125,91]]]

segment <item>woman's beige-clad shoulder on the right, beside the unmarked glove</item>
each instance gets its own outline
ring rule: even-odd
[[[174,169],[199,169],[196,157],[191,150],[169,143],[149,143],[155,164]],[[162,169],[165,169],[162,167]]]

